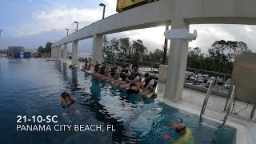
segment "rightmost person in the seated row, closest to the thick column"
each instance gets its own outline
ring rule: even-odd
[[[158,82],[155,82],[154,77],[150,76],[149,73],[146,73],[143,82],[138,82],[136,85],[138,86],[138,89],[142,90],[142,96],[146,97],[147,94],[154,93]]]

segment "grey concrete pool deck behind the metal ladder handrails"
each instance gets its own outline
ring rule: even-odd
[[[67,60],[67,63],[70,64],[70,60]],[[81,62],[80,66],[83,65],[84,62]],[[185,110],[192,114],[200,115],[202,103],[204,101],[204,98],[206,97],[206,93],[184,87],[182,91],[182,100],[178,102],[173,102],[163,97],[164,91],[165,83],[158,82],[157,100],[159,102],[165,102],[166,104],[180,110]],[[224,118],[225,104],[226,98],[211,94],[203,117],[222,123],[222,119]],[[234,109],[236,112],[238,112],[244,109],[246,106],[246,102],[236,101]],[[254,144],[256,141],[256,114],[254,114],[253,120],[250,120],[250,111],[252,110],[252,107],[253,106],[249,104],[245,110],[242,110],[238,114],[234,114],[234,110],[232,110],[232,113],[227,118],[226,125],[232,126],[237,129],[236,143],[238,144]]]

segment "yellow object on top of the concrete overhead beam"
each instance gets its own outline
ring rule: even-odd
[[[117,2],[117,12],[133,8],[135,6],[140,6],[147,2],[152,2],[154,0],[118,0]]]

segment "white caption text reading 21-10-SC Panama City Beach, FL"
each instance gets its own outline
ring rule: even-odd
[[[47,115],[43,118],[41,115],[32,116],[28,118],[25,116],[17,116],[17,131],[115,131],[113,125],[58,125],[58,116]],[[33,124],[26,124],[26,122]],[[41,124],[46,122],[47,124]],[[50,126],[50,123],[54,123],[53,126]]]

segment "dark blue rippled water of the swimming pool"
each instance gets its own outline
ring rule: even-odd
[[[66,62],[44,59],[0,58],[1,143],[170,143],[179,135],[168,125],[180,119],[193,133],[194,143],[235,142],[236,130],[168,106],[158,99],[126,98],[125,92]],[[103,84],[103,85],[102,85]],[[60,94],[69,90],[77,98],[62,108]],[[77,113],[79,112],[79,113]],[[58,115],[58,124],[113,125],[115,131],[16,131],[17,116]],[[50,123],[54,125],[54,123]]]

